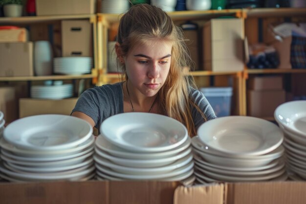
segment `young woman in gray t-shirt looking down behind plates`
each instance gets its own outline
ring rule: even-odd
[[[120,20],[115,50],[125,81],[88,89],[71,115],[99,129],[114,114],[158,113],[182,122],[189,136],[216,118],[193,78],[184,74],[192,61],[180,28],[160,8],[132,6]]]

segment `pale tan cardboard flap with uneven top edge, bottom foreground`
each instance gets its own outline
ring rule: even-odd
[[[178,186],[174,193],[174,204],[223,204],[224,184]]]

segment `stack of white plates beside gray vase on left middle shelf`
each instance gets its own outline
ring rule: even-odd
[[[92,67],[91,57],[56,57],[54,73],[59,74],[86,74]]]

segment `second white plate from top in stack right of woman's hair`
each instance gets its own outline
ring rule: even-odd
[[[202,153],[197,149],[193,149],[193,151],[196,152],[197,155],[199,155],[201,158],[205,159],[210,163],[222,166],[236,167],[236,168],[265,166],[268,163],[272,162],[273,160],[278,159],[278,158],[263,158],[263,159],[226,158],[217,155]]]

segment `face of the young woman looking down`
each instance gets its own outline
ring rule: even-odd
[[[153,96],[160,90],[169,73],[171,50],[171,43],[149,40],[129,51],[124,60],[134,94]]]

